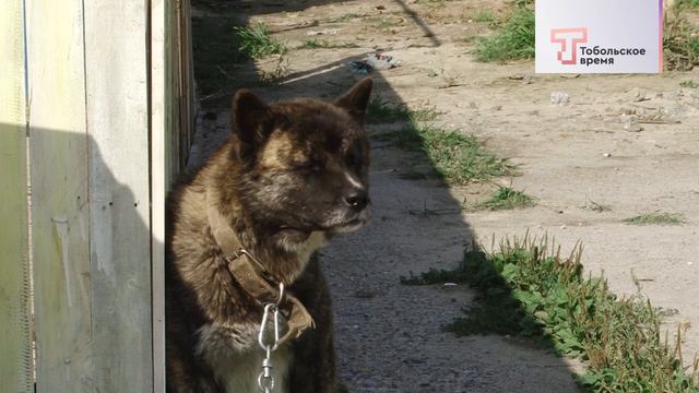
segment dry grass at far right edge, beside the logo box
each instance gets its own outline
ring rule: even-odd
[[[676,0],[664,14],[663,56],[666,70],[688,71],[699,64],[699,31],[687,20],[698,0]]]

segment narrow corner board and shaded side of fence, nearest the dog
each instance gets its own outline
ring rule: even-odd
[[[154,391],[165,390],[165,196],[185,169],[193,135],[188,0],[151,4],[151,195]]]

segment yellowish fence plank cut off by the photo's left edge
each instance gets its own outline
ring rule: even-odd
[[[0,381],[7,391],[31,392],[24,15],[21,1],[0,8]]]

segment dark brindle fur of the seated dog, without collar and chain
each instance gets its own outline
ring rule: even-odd
[[[316,329],[274,352],[280,393],[335,393],[330,297],[313,252],[368,215],[365,79],[334,104],[268,105],[249,91],[233,102],[233,132],[168,196],[168,392],[257,392],[262,306],[230,275],[209,205],[242,246],[308,309]]]

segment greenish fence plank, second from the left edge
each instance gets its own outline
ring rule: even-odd
[[[27,0],[38,392],[93,392],[82,4]]]

